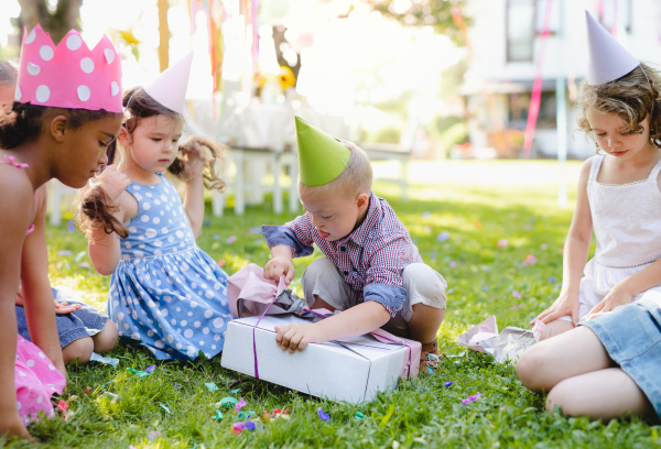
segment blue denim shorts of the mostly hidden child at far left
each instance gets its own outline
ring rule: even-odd
[[[80,338],[91,337],[100,332],[106,326],[108,316],[96,308],[80,302],[79,298],[73,296],[65,288],[53,287],[53,297],[58,303],[80,304],[78,310],[71,314],[56,315],[57,333],[59,335],[59,346],[64,348],[73,341]],[[28,321],[25,320],[25,310],[21,306],[15,306],[17,321],[19,324],[19,335],[25,340],[30,339],[28,331]]]

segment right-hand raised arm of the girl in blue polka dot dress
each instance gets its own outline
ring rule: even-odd
[[[195,140],[187,140],[181,152],[186,157],[184,210],[188,217],[193,236],[197,239],[204,222],[204,151]]]

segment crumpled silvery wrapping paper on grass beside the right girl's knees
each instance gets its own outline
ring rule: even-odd
[[[525,349],[535,342],[532,330],[508,326],[498,333],[495,315],[457,337],[457,343],[460,346],[491,354],[498,363],[508,359],[517,360]]]

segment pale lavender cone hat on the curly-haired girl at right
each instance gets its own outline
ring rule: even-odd
[[[585,11],[587,25],[587,84],[614,81],[640,64],[613,35]]]

